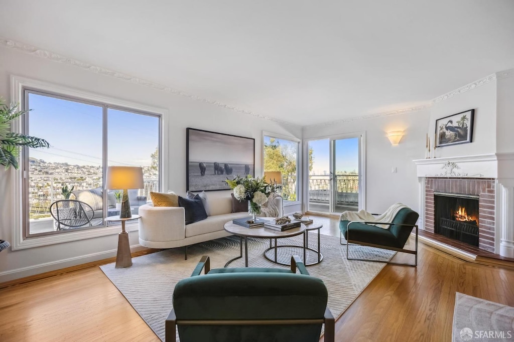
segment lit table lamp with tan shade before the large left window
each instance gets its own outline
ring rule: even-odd
[[[136,166],[109,166],[107,167],[106,189],[123,190],[121,199],[120,218],[132,217],[130,202],[128,201],[128,189],[142,189],[143,168]]]

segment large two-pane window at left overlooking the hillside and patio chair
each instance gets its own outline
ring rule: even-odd
[[[29,89],[24,96],[25,134],[50,143],[25,152],[25,237],[104,227],[119,215],[118,194],[104,189],[107,166],[143,168],[144,189],[129,190],[133,214],[158,191],[159,115]]]

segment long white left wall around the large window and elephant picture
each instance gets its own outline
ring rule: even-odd
[[[262,173],[263,130],[301,138],[301,128],[297,126],[259,119],[206,102],[175,96],[0,47],[0,96],[8,101],[11,74],[168,109],[169,125],[164,127],[164,134],[168,136],[169,153],[168,156],[163,156],[163,160],[168,163],[168,175],[165,175],[168,177],[168,188],[178,193],[186,191],[186,127],[254,138],[257,175]],[[5,172],[1,169],[0,239],[8,241],[12,241],[13,229],[19,229],[13,226],[12,182],[12,170]],[[117,234],[114,234],[17,251],[8,249],[0,254],[0,282],[115,256],[117,239]],[[138,244],[137,231],[130,234],[130,242],[133,246]]]

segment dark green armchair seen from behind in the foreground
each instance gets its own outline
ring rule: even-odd
[[[175,341],[178,327],[181,342],[317,342],[325,324],[325,341],[333,342],[327,297],[323,281],[310,276],[298,256],[290,270],[211,270],[204,256],[191,277],[175,286],[166,340]]]

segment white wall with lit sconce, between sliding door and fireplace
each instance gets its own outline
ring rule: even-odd
[[[366,205],[382,213],[401,202],[418,211],[418,179],[414,159],[425,158],[428,109],[402,115],[360,120],[335,125],[307,126],[303,138],[318,138],[352,132],[366,132]],[[387,132],[403,130],[400,143],[392,146]],[[393,167],[397,173],[391,173]]]

